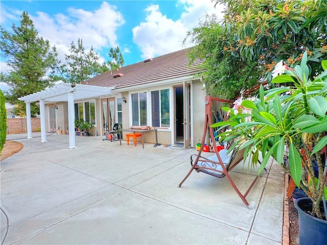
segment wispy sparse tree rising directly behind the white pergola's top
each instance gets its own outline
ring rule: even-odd
[[[99,56],[93,47],[85,51],[82,39],[78,39],[77,46],[73,41],[69,52],[65,55],[66,64],[62,71],[66,82],[81,83],[109,70],[105,64],[99,63]]]

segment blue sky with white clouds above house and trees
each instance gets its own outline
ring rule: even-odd
[[[194,44],[182,45],[186,32],[206,13],[221,17],[222,6],[211,0],[178,1],[6,1],[0,2],[1,26],[19,26],[27,11],[38,34],[55,45],[59,59],[69,54],[72,41],[82,39],[101,60],[109,60],[111,47],[119,46],[125,64],[169,54]],[[8,69],[3,58],[1,71]],[[4,85],[4,84],[0,84]]]

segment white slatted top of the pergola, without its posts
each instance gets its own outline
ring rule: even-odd
[[[39,100],[44,100],[44,102],[68,101],[67,93],[73,92],[74,101],[80,101],[110,95],[112,94],[111,89],[112,87],[99,87],[84,84],[76,84],[75,87],[72,87],[71,84],[64,83],[20,97],[18,100],[25,101],[26,103]]]

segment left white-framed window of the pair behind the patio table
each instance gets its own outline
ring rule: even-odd
[[[131,99],[133,126],[147,125],[147,93],[132,93]]]

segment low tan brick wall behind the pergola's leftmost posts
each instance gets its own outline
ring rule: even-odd
[[[32,117],[32,132],[38,132],[41,129],[40,118]],[[26,118],[7,118],[7,134],[27,133]]]

